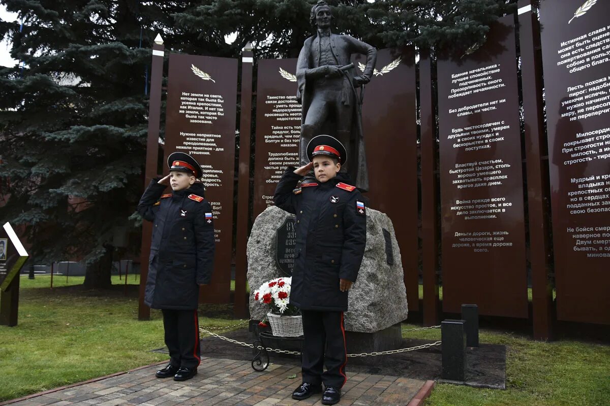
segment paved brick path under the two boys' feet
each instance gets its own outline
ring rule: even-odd
[[[272,360],[273,361],[273,360]],[[301,368],[271,363],[266,371],[254,371],[249,362],[229,359],[203,359],[199,373],[185,382],[154,377],[158,366],[146,366],[95,382],[85,382],[59,390],[46,391],[9,401],[11,406],[97,405],[97,406],[245,406],[321,405],[320,395],[304,401],[290,397],[301,382]],[[352,373],[343,387],[340,406],[420,405],[422,393],[431,381],[396,376]],[[295,379],[289,376],[296,374]],[[425,388],[422,387],[425,386]],[[422,390],[422,391],[420,391]],[[420,394],[418,394],[420,391]],[[417,396],[416,396],[417,395]],[[414,399],[415,397],[415,399]]]

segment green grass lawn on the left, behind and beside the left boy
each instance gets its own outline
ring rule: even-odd
[[[109,292],[87,292],[56,287],[56,281],[66,279],[54,276],[51,290],[48,278],[21,277],[18,325],[0,326],[0,401],[167,360],[167,355],[151,352],[164,346],[162,315],[151,310],[151,321],[137,320],[135,287],[131,297],[123,295],[120,285]],[[76,278],[70,277],[70,283]],[[112,279],[124,283],[118,276]],[[200,317],[199,323],[235,324],[228,313]]]

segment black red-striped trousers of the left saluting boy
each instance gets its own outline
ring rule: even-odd
[[[163,309],[162,312],[170,364],[197,368],[201,362],[197,310]]]

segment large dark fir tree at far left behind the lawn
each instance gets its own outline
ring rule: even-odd
[[[84,257],[85,284],[110,285],[112,237],[134,211],[146,139],[137,1],[4,1],[0,25],[24,68],[0,71],[3,220],[26,226],[38,261]],[[35,238],[34,238],[35,231]]]

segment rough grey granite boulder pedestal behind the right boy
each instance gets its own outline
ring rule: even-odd
[[[251,292],[265,281],[286,276],[276,264],[276,229],[289,213],[274,206],[254,221],[248,239],[248,283]],[[350,290],[345,331],[348,353],[386,351],[401,345],[400,323],[409,313],[400,249],[392,221],[367,208],[367,245],[356,283]],[[250,295],[250,315],[262,320],[267,308]]]

